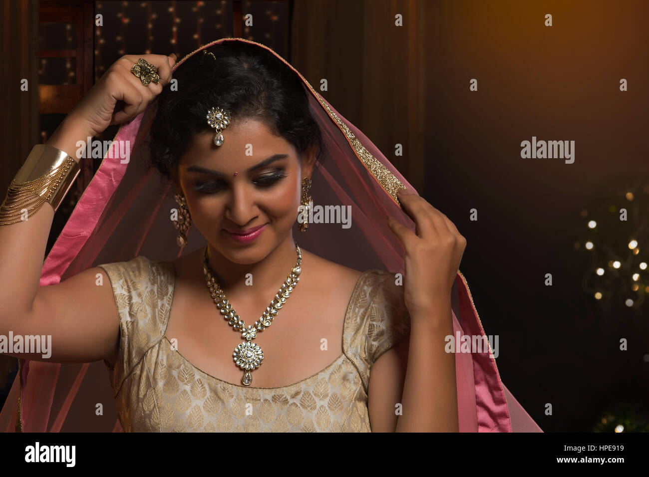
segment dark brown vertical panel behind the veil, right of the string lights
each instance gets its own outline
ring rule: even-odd
[[[434,2],[296,1],[289,62],[358,127],[412,186],[424,191],[426,19]],[[402,14],[404,26],[395,25]],[[383,33],[382,33],[383,32]],[[401,144],[403,155],[395,155]]]

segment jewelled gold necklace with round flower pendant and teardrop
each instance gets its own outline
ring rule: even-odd
[[[245,373],[241,382],[249,386],[252,382],[251,371],[254,371],[262,365],[263,361],[263,351],[259,345],[254,343],[252,339],[257,336],[258,331],[263,331],[265,328],[271,326],[272,321],[275,319],[279,310],[284,306],[288,297],[291,296],[291,292],[297,286],[297,282],[300,281],[300,273],[302,273],[302,252],[300,247],[295,243],[295,251],[297,251],[297,265],[291,269],[291,273],[288,274],[286,280],[280,287],[278,293],[275,295],[275,299],[271,301],[269,306],[267,306],[266,311],[263,312],[260,319],[254,322],[253,325],[249,325],[247,328],[242,319],[239,318],[237,312],[232,308],[232,304],[228,302],[223,289],[219,286],[219,282],[216,281],[216,277],[212,268],[210,267],[209,256],[208,256],[208,247],[205,247],[205,252],[203,254],[203,273],[205,275],[205,280],[207,283],[208,289],[210,289],[210,295],[216,304],[216,308],[219,309],[223,318],[228,320],[228,323],[234,331],[241,332],[241,337],[246,341],[240,343],[234,349],[234,362],[238,367],[240,367]]]

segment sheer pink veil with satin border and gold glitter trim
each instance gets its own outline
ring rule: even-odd
[[[265,45],[241,38],[208,43],[180,60],[174,70],[191,55],[221,42],[257,45],[295,71]],[[353,219],[347,229],[315,224],[305,233],[297,232],[296,222],[293,236],[308,251],[348,267],[404,273],[402,246],[387,227],[385,216],[391,215],[415,230],[396,196],[399,188],[413,190],[412,186],[360,130],[338,114],[299,72],[295,73],[304,84],[327,150],[323,164],[313,171],[313,202],[351,205]],[[175,191],[142,166],[154,110],[147,108],[117,131],[113,147],[117,149],[119,141],[130,141],[130,161],[122,164],[117,153],[104,157],[45,260],[41,286],[57,284],[101,263],[127,261],[139,255],[168,261],[181,254],[177,230],[169,220],[169,211],[177,208]],[[188,242],[186,252],[206,245],[193,227]],[[460,272],[452,289],[452,310],[455,334],[485,336]],[[460,432],[542,432],[500,380],[492,356],[491,347],[489,352],[456,354]],[[112,402],[102,361],[59,364],[20,360],[18,376],[0,412],[0,430],[121,432],[115,413],[96,416],[93,412],[97,403],[102,403],[104,410],[112,409]]]

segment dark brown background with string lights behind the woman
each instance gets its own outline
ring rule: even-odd
[[[88,29],[97,13],[103,27]],[[264,43],[315,88],[327,79],[323,96],[467,238],[460,269],[485,333],[499,336],[500,376],[537,424],[646,431],[648,15],[641,0],[12,1],[0,23],[0,185],[119,56]],[[39,88],[18,94],[25,77]],[[521,158],[532,136],[575,141],[574,164]],[[57,212],[48,251],[98,165]],[[0,358],[0,382],[15,362]]]

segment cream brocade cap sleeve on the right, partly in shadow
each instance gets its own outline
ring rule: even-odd
[[[395,281],[394,273],[365,271],[350,304],[345,347],[366,392],[372,365],[410,331],[404,285]]]

